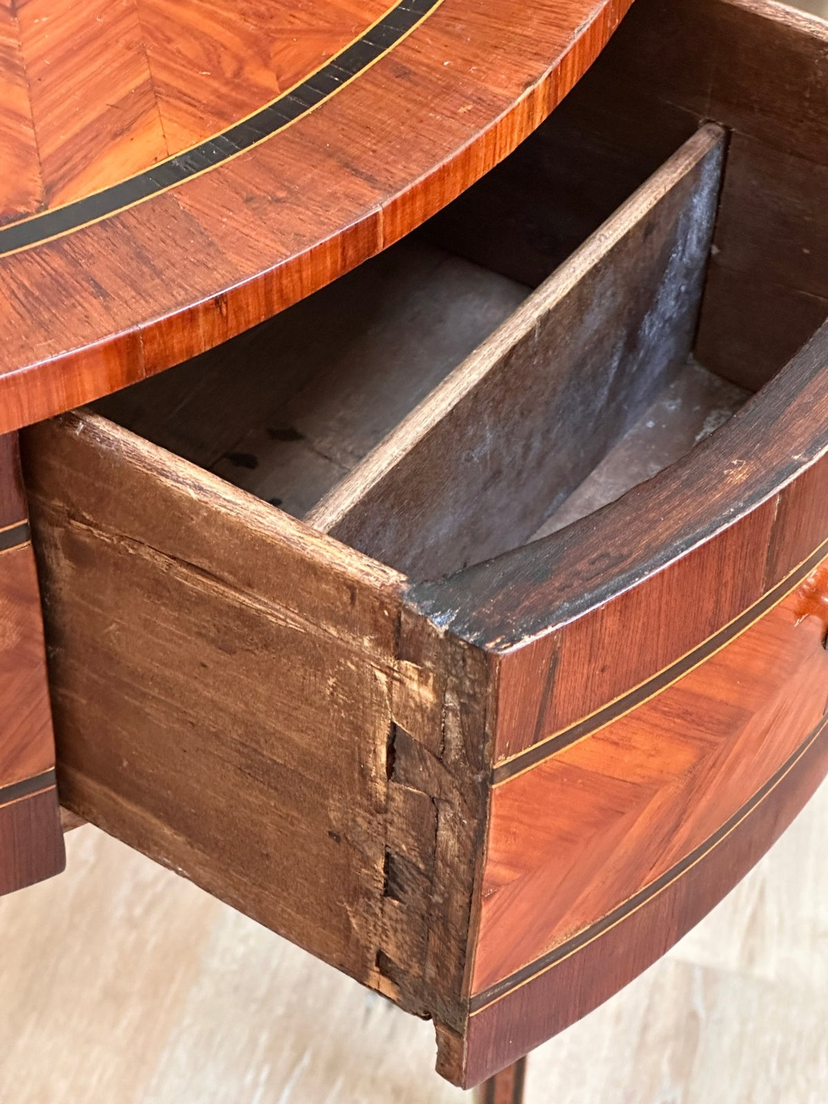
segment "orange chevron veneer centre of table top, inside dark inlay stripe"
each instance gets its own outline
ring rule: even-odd
[[[389,9],[384,0],[4,3],[3,140],[26,189],[4,221],[78,200],[226,129],[286,92]],[[17,93],[17,96],[14,96]]]

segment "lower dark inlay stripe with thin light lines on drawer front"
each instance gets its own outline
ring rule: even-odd
[[[782,782],[786,774],[796,766],[798,761],[805,755],[808,749],[822,735],[824,732],[828,730],[828,716],[822,718],[819,724],[814,729],[806,740],[799,744],[797,750],[785,761],[785,763],[773,774],[768,781],[757,789],[753,797],[745,802],[745,804],[733,814],[733,816],[725,820],[718,831],[709,836],[703,843],[700,843],[693,851],[690,851],[681,862],[677,862],[671,867],[666,873],[656,881],[650,882],[643,890],[636,893],[629,900],[625,901],[623,904],[618,905],[612,912],[608,912],[606,916],[603,916],[595,924],[590,927],[585,927],[583,932],[574,935],[566,943],[562,943],[560,946],[550,951],[548,954],[542,955],[540,958],[535,958],[534,962],[529,963],[528,966],[521,967],[521,969],[516,970],[510,974],[509,977],[502,979],[502,981],[497,981],[495,985],[489,986],[488,989],[484,989],[482,992],[478,992],[476,996],[471,997],[469,1002],[469,1008],[471,1013],[481,1011],[488,1005],[493,1004],[501,997],[505,997],[512,989],[517,989],[519,986],[527,981],[531,981],[532,978],[538,977],[540,974],[544,974],[548,969],[551,969],[558,963],[562,962],[564,958],[569,958],[570,955],[575,954],[582,949],[587,943],[592,943],[593,940],[598,938],[611,927],[614,927],[620,921],[625,920],[627,916],[631,915],[641,905],[647,904],[654,898],[667,889],[677,878],[681,878],[691,867],[703,859],[710,851],[712,851],[719,843],[730,835],[731,831],[742,821],[745,817],[749,817],[753,810],[762,804],[762,802],[767,797],[767,795]]]

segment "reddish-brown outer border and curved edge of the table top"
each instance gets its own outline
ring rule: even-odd
[[[444,0],[273,138],[7,256],[0,433],[202,352],[420,225],[542,121],[630,2]]]

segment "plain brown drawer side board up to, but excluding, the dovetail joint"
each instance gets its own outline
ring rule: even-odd
[[[397,577],[102,418],[26,458],[62,800],[370,984]]]

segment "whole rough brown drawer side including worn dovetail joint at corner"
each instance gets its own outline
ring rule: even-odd
[[[26,432],[61,799],[446,1030],[486,658],[404,580],[94,414]]]

